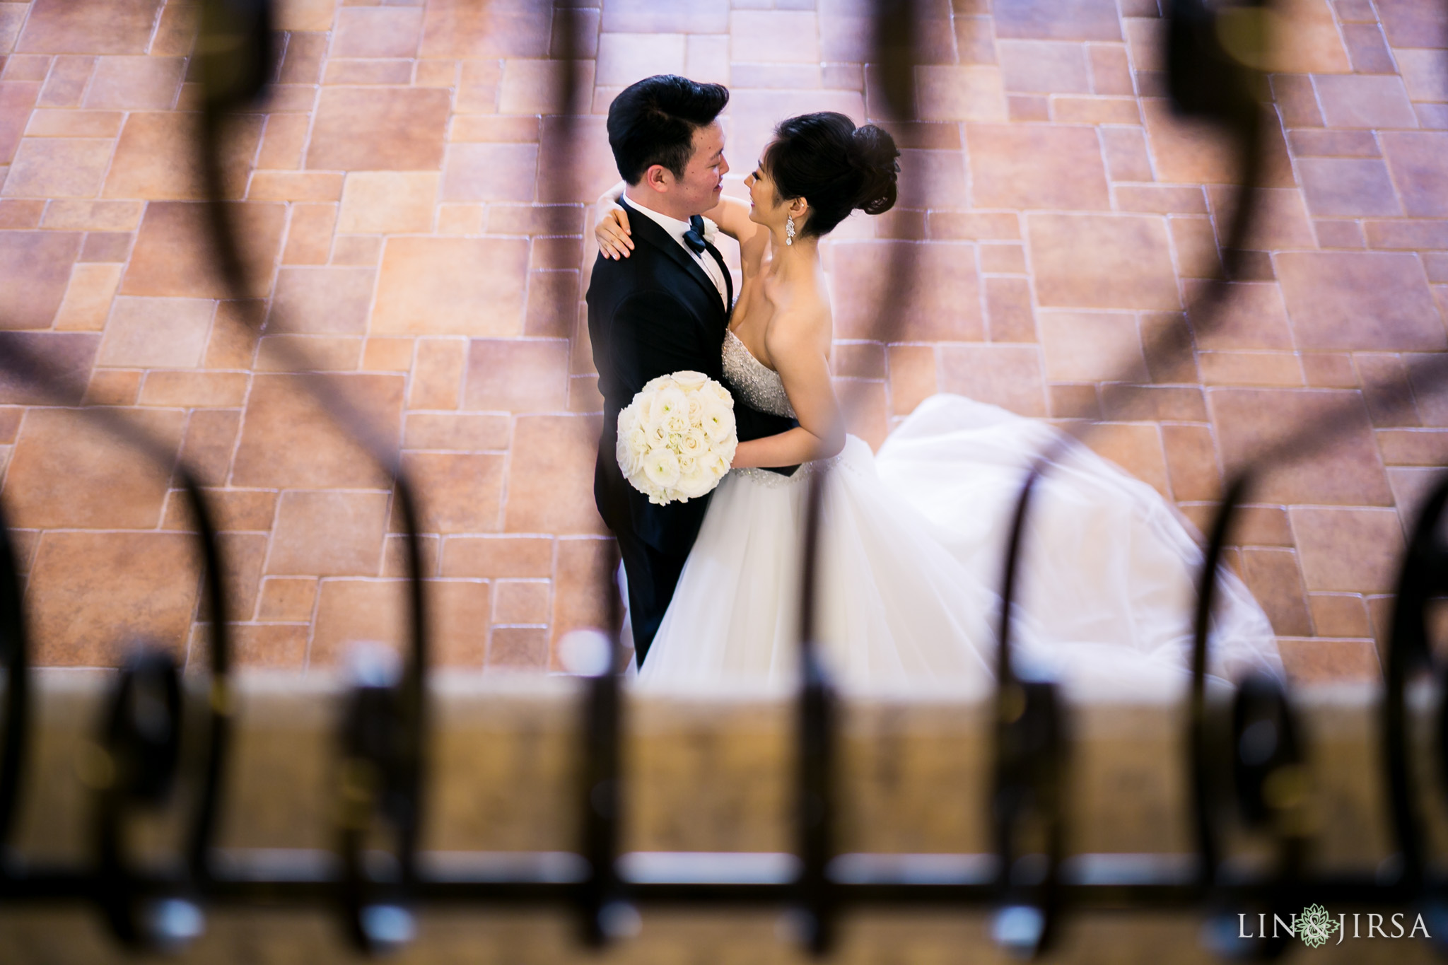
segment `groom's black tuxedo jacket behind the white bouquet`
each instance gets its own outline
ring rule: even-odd
[[[621,204],[628,207],[627,201]],[[689,369],[724,382],[721,349],[730,311],[698,262],[653,218],[630,208],[628,227],[634,250],[618,260],[599,255],[586,295],[588,337],[604,396],[594,501],[615,534],[633,534],[662,553],[685,556],[704,522],[708,496],[657,506],[630,486],[618,469],[614,446],[618,412],[660,375]],[[720,268],[728,278],[728,269],[723,263]],[[734,420],[740,441],[798,425],[795,420],[756,412],[737,399]]]

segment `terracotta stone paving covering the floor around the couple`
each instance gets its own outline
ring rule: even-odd
[[[578,6],[588,94],[568,103],[549,59],[568,38],[537,0],[281,4],[279,82],[224,165],[272,320],[256,341],[200,233],[197,7],[0,3],[0,324],[213,486],[240,663],[329,666],[401,619],[390,485],[288,349],[403,446],[437,660],[549,668],[559,634],[599,613],[579,299],[584,203],[617,178],[610,100],[662,71],[728,84],[730,191],[785,116],[889,113],[863,0]],[[1170,114],[1156,0],[924,6],[921,120],[892,126],[901,203],[827,245],[856,431],[877,444],[935,391],[1103,420],[1090,444],[1205,524],[1254,446],[1345,411],[1328,453],[1257,489],[1232,561],[1295,679],[1377,677],[1405,519],[1448,462],[1448,398],[1360,388],[1445,349],[1444,7],[1279,4],[1267,217],[1229,317],[1195,336],[1184,307],[1216,271],[1232,165]],[[914,275],[883,333],[889,265]],[[1148,360],[1160,333],[1192,357]],[[1121,379],[1151,389],[1128,399]],[[138,635],[200,657],[181,493],[41,402],[0,385],[39,663],[114,664]]]

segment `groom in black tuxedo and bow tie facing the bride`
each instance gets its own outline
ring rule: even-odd
[[[734,282],[718,249],[704,239],[699,214],[718,204],[728,171],[718,122],[727,103],[720,84],[657,75],[624,88],[608,107],[608,146],[628,185],[620,204],[628,211],[634,250],[618,260],[599,256],[588,286],[588,337],[604,396],[594,499],[618,537],[640,666],[710,501],[657,506],[630,486],[614,449],[618,411],[660,375],[689,369],[724,378],[720,347]],[[759,422],[738,405],[736,420],[740,440],[794,425]]]

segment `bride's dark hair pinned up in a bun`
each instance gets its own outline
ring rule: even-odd
[[[875,124],[856,127],[833,110],[801,114],[775,127],[763,163],[782,201],[804,198],[809,216],[799,234],[828,234],[860,208],[883,214],[895,204],[901,152]]]

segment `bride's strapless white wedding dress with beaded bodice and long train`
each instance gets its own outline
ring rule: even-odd
[[[736,405],[794,415],[779,375],[733,333]],[[980,692],[993,680],[1001,571],[1045,422],[959,395],[925,399],[877,456],[849,437],[828,460],[818,638],[847,690]],[[731,470],[637,684],[714,690],[788,686],[798,674],[808,464],[792,477]],[[1158,692],[1184,684],[1202,551],[1177,511],[1085,446],[1040,480],[1025,531],[1012,638],[1021,663],[1069,687]],[[1281,674],[1271,625],[1225,574],[1211,671]]]

